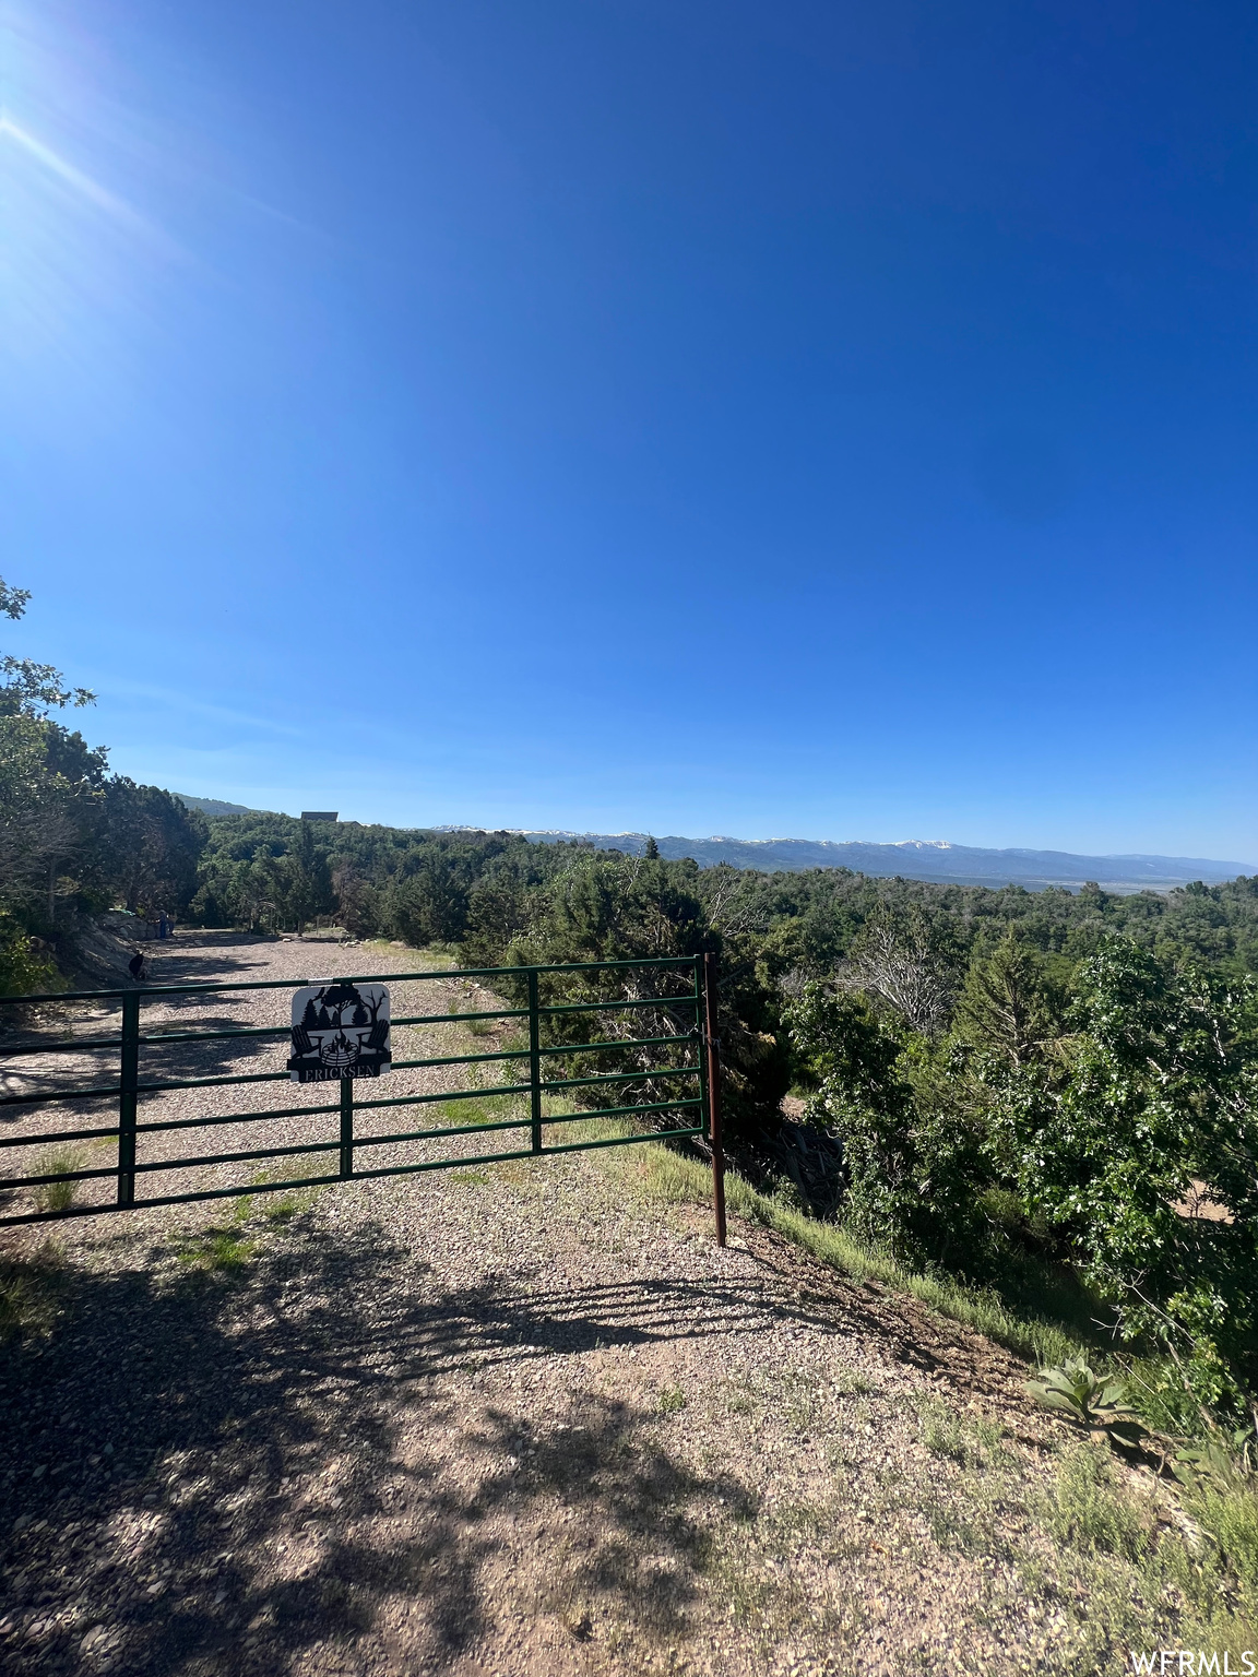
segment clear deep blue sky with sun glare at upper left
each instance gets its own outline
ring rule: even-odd
[[[1258,15],[0,0],[7,647],[362,820],[1258,855]]]

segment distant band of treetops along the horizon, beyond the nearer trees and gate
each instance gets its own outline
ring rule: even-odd
[[[302,822],[273,813],[208,817],[196,889],[185,922],[297,931],[337,919],[351,936],[398,937],[416,946],[461,944],[505,956],[538,919],[542,890],[574,867],[597,862],[632,877],[644,860],[715,907],[723,924],[778,931],[802,966],[825,968],[881,904],[916,904],[954,921],[969,948],[993,926],[1018,924],[1045,953],[1080,958],[1100,927],[1258,973],[1258,875],[1193,882],[1169,892],[1107,892],[1023,885],[961,885],[845,867],[763,872],[689,859],[599,850],[584,838],[538,842],[483,828],[401,828],[359,822]],[[785,948],[785,944],[783,944]],[[498,964],[490,963],[490,964]]]

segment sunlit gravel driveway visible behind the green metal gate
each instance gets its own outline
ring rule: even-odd
[[[387,944],[335,944],[300,939],[272,941],[240,932],[179,934],[171,944],[146,944],[151,984],[178,983],[273,983],[305,984],[322,979],[362,974],[369,971],[408,971],[431,964],[414,949]],[[391,986],[392,1013],[398,1018],[431,1013],[471,1013],[480,1008],[502,1006],[471,981],[443,983],[439,979],[394,981]],[[144,1036],[183,1031],[230,1031],[243,1028],[278,1028],[287,1033],[290,1023],[290,989],[218,991],[191,996],[146,996],[141,1011]],[[3,1093],[59,1093],[70,1088],[117,1088],[119,1050],[116,1046],[75,1051],[74,1043],[86,1038],[117,1036],[121,1013],[116,1003],[106,1008],[94,1005],[67,1005],[50,1010],[35,1021],[35,1028],[20,1033],[32,1040],[37,1050],[13,1055],[0,1062],[3,1067]],[[486,1035],[470,1038],[458,1025],[401,1026],[392,1031],[394,1060],[438,1058],[453,1053],[491,1053],[518,1031],[515,1021],[485,1021]],[[335,1174],[335,1144],[339,1137],[339,1085],[299,1085],[285,1078],[289,1057],[285,1036],[226,1038],[206,1041],[144,1043],[139,1057],[139,1080],[168,1082],[190,1078],[248,1077],[257,1082],[228,1087],[200,1087],[148,1093],[141,1097],[138,1144],[139,1177],[136,1194],[158,1199],[169,1194],[205,1192],[228,1186],[257,1182],[260,1174],[272,1179]],[[455,1088],[491,1087],[518,1082],[512,1062],[485,1067],[414,1067],[392,1072],[386,1082],[356,1085],[356,1098],[396,1098],[399,1095],[434,1095]],[[527,1075],[527,1073],[525,1073]],[[265,1078],[265,1080],[263,1080]],[[104,1095],[92,1100],[57,1100],[45,1107],[5,1108],[10,1130],[18,1124],[23,1134],[34,1137],[29,1147],[7,1147],[3,1162],[7,1172],[39,1174],[40,1160],[49,1155],[47,1137],[67,1130],[106,1127],[116,1122],[117,1097]],[[485,1105],[485,1103],[481,1103]],[[322,1107],[315,1115],[268,1117],[270,1112]],[[231,1114],[243,1114],[242,1122],[223,1122]],[[525,1117],[527,1108],[517,1103],[507,1110],[498,1103],[493,1119]],[[429,1124],[431,1119],[431,1124]],[[206,1125],[200,1129],[149,1130],[144,1125],[163,1122]],[[478,1150],[510,1150],[520,1142],[518,1132],[486,1132],[450,1144],[398,1142],[381,1144],[404,1130],[475,1122],[470,1112],[441,1103],[433,1107],[382,1107],[359,1110],[356,1139],[364,1142],[356,1155],[356,1169],[384,1169],[396,1164],[413,1164],[424,1157],[471,1154]],[[74,1144],[79,1169],[104,1172],[114,1164],[114,1140],[87,1140]],[[304,1147],[327,1150],[299,1152]],[[185,1160],[206,1154],[245,1154],[258,1150],[282,1152],[282,1159],[252,1159],[235,1164],[186,1166]],[[57,1166],[54,1166],[57,1167]],[[86,1181],[77,1202],[107,1204],[114,1197],[114,1179],[101,1176]],[[30,1194],[0,1191],[7,1211],[32,1209]],[[179,1214],[166,1221],[174,1226]]]

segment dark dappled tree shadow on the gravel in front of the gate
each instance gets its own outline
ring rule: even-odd
[[[710,1561],[696,1511],[750,1516],[746,1491],[671,1459],[652,1414],[522,1422],[473,1370],[812,1320],[733,1281],[446,1293],[386,1229],[305,1218],[238,1276],[121,1236],[96,1263],[47,1338],[0,1348],[5,1672],[441,1672],[537,1541],[565,1556],[552,1613],[668,1637]]]

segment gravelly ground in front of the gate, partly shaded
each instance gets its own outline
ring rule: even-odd
[[[312,969],[299,944],[168,959]],[[763,1229],[718,1249],[651,1169],[60,1224],[50,1332],[0,1352],[0,1670],[1129,1667],[1047,1534],[1060,1432],[1025,1368]]]

